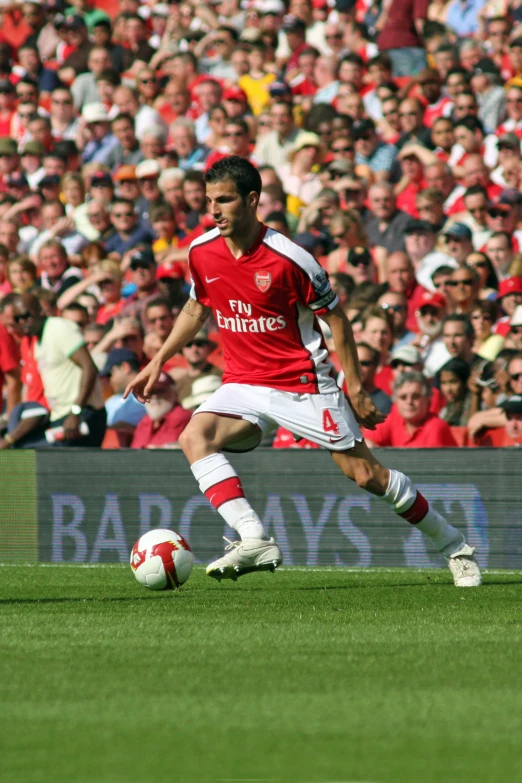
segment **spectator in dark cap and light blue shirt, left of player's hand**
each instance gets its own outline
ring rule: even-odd
[[[120,445],[130,445],[130,440],[136,426],[145,416],[145,406],[138,402],[133,394],[126,400],[123,392],[140,371],[138,357],[128,348],[113,348],[107,354],[107,359],[100,371],[100,377],[107,379],[113,394],[105,400],[107,411],[107,426],[116,429],[126,437],[125,444],[120,439]]]

